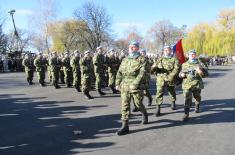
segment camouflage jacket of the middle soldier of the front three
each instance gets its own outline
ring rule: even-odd
[[[177,58],[159,58],[154,62],[151,71],[157,78],[174,83],[176,75],[179,73],[180,64]]]

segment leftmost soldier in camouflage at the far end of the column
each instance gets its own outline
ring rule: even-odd
[[[25,58],[22,61],[22,65],[25,68],[25,74],[26,74],[27,82],[29,83],[29,85],[32,85],[33,84],[33,74],[34,74],[35,66],[33,64],[33,58],[31,57],[30,54],[25,55]]]

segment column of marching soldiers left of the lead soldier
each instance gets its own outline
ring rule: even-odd
[[[59,83],[66,84],[67,87],[74,87],[78,92],[83,92],[87,99],[93,99],[90,95],[92,84],[100,96],[106,95],[101,89],[109,86],[111,91],[119,93],[115,89],[116,73],[120,60],[114,50],[110,50],[106,55],[103,47],[99,46],[96,53],[85,51],[83,54],[78,50],[69,55],[65,52],[58,56],[57,52],[51,52],[48,56],[39,53],[33,59],[30,54],[26,54],[22,63],[25,67],[27,82],[33,84],[34,72],[37,72],[39,84],[46,86],[46,71],[49,83],[55,89],[61,88]],[[107,78],[108,76],[108,78]]]

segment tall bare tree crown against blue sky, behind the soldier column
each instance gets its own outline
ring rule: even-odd
[[[102,42],[109,38],[111,18],[105,8],[86,2],[81,8],[74,11],[75,18],[86,25],[84,31],[79,31],[81,38],[88,48],[95,50]]]

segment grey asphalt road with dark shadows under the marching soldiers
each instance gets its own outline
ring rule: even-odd
[[[130,134],[117,136],[118,95],[100,98],[92,91],[96,98],[87,101],[74,88],[28,86],[23,73],[0,73],[0,155],[234,155],[235,65],[212,67],[204,81],[201,113],[191,109],[188,122],[181,122],[178,88],[176,111],[166,96],[163,116],[147,107],[149,124],[141,125],[140,113],[134,113]]]

